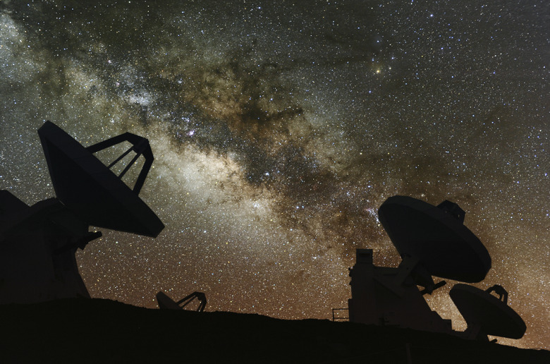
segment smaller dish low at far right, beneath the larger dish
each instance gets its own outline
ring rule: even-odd
[[[483,291],[468,284],[455,284],[449,295],[468,324],[467,332],[470,330],[475,336],[493,335],[520,339],[527,329],[525,322],[506,304],[506,298],[502,301],[501,298],[491,295],[494,287],[499,287],[505,297],[508,296],[500,286]]]

